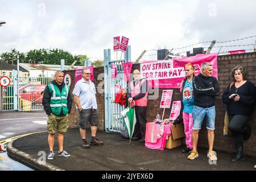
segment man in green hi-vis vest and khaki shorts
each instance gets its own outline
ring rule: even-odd
[[[69,157],[68,152],[63,150],[63,133],[68,129],[68,114],[71,111],[73,99],[69,86],[63,82],[64,74],[61,71],[56,71],[55,80],[46,86],[43,94],[43,106],[48,115],[47,130],[49,155],[48,160],[54,157],[53,144],[54,135],[58,133],[59,156]]]

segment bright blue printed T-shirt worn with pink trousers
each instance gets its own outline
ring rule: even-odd
[[[183,88],[183,93],[182,93],[182,98],[183,98],[183,112],[184,113],[192,113],[193,107],[194,107],[194,95],[193,95],[193,82],[188,82],[186,80],[184,88]]]

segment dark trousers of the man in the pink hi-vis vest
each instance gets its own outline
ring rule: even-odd
[[[146,134],[146,110],[147,107],[135,106],[136,124],[134,128],[134,137],[145,138]]]

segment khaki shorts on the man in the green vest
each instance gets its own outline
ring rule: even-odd
[[[67,115],[48,115],[47,130],[50,134],[68,131],[68,114]]]

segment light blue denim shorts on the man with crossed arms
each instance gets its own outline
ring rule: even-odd
[[[194,106],[193,108],[193,130],[200,130],[204,117],[207,121],[207,129],[215,130],[215,106],[204,108]]]

